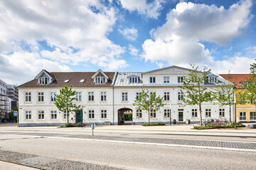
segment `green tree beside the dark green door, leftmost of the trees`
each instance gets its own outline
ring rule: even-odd
[[[60,89],[60,94],[55,94],[56,101],[54,102],[59,111],[67,113],[68,123],[69,113],[72,111],[78,112],[80,108],[80,106],[74,103],[76,91],[73,91],[72,87],[73,86],[70,86],[70,88],[68,88],[68,86],[64,86],[63,89]]]

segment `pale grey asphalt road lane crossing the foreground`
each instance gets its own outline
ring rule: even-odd
[[[0,147],[127,169],[255,169],[256,153],[193,149],[77,139],[1,136]]]

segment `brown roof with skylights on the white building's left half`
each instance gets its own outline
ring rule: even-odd
[[[49,73],[49,72],[47,72]],[[18,88],[22,87],[63,87],[65,85],[74,86],[74,87],[107,87],[111,86],[112,79],[114,77],[114,72],[104,72],[110,80],[106,84],[94,84],[93,79],[91,78],[95,72],[50,72],[50,77],[53,76],[53,81],[51,84],[38,84],[37,79],[21,84]],[[68,83],[64,83],[66,79],[70,79]],[[80,83],[81,79],[85,79],[83,83]]]

